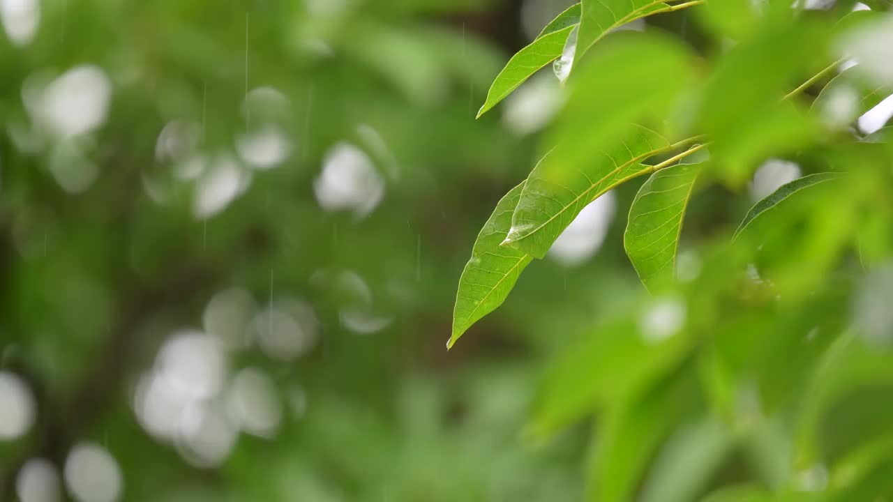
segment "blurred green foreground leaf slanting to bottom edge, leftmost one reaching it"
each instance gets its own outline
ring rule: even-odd
[[[632,498],[657,448],[697,410],[697,382],[691,376],[682,373],[657,382],[605,413],[593,442],[589,500],[623,502]]]

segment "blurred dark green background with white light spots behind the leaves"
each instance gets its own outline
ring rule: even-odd
[[[643,293],[622,247],[640,183],[590,205],[446,349],[475,236],[563,88],[547,68],[475,113],[570,4],[0,0],[0,500],[583,499],[589,427],[526,424],[551,356]],[[695,17],[647,23],[714,54]],[[741,197],[705,190],[687,231],[734,225],[800,174],[775,159]],[[773,329],[808,324],[800,306]],[[722,464],[716,427],[668,448]]]

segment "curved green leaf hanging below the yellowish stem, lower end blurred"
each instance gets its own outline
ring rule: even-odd
[[[630,206],[623,246],[646,287],[672,272],[682,221],[700,164],[678,164],[651,175]]]

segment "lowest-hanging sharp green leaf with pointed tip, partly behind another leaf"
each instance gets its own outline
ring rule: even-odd
[[[524,183],[509,190],[484,223],[472,247],[472,259],[459,279],[453,311],[453,333],[447,347],[453,347],[472,324],[493,312],[505,301],[514,283],[532,258],[520,251],[500,247],[512,222]]]

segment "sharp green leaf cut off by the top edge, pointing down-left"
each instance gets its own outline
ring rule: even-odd
[[[663,12],[669,7],[654,0],[583,0],[580,4],[582,12],[574,66],[591,46],[612,29],[649,14]]]

